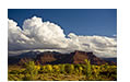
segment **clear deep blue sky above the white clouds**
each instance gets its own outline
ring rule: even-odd
[[[9,9],[8,17],[22,26],[32,16],[60,25],[64,34],[113,36],[117,34],[116,9]]]

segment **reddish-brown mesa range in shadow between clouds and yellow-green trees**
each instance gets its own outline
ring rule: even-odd
[[[57,51],[29,51],[20,56],[9,57],[9,65],[23,65],[28,60],[34,60],[36,61],[36,63],[40,65],[85,63],[85,59],[88,59],[92,65],[104,65],[106,62],[108,62],[109,65],[116,65],[116,62],[114,61],[96,57],[95,55],[93,55],[93,52],[85,52],[80,50],[75,50],[71,54],[60,54]]]

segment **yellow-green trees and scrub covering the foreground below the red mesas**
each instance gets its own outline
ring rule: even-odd
[[[9,66],[9,81],[114,81],[117,66],[96,66],[85,59],[86,65],[36,65],[27,61],[23,66]]]

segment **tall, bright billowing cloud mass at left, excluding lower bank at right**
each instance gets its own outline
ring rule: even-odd
[[[12,20],[9,20],[8,24],[9,45],[11,45],[9,50],[66,47],[63,44],[66,35],[60,26],[50,22],[42,22],[40,17],[34,16],[25,20],[23,30]]]

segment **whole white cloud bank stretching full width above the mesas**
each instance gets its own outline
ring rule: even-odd
[[[40,17],[24,21],[22,28],[13,20],[8,21],[9,51],[73,50],[93,51],[98,57],[116,57],[116,38],[106,36],[81,36],[70,33],[68,38],[63,30],[55,23],[43,22]]]

